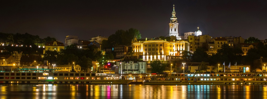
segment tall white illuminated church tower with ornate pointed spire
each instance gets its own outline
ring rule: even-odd
[[[175,11],[173,10],[172,12],[172,18],[171,18],[171,23],[169,24],[170,26],[170,34],[169,36],[176,36],[177,40],[181,40],[181,38],[178,36],[178,23],[177,23],[177,18],[175,17]]]

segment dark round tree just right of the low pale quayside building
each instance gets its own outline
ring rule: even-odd
[[[163,61],[154,60],[150,63],[151,66],[151,73],[163,73],[167,64],[163,64]]]

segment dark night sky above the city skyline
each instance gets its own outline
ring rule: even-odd
[[[203,35],[213,37],[267,38],[266,0],[1,0],[0,32],[59,41],[67,35],[88,40],[130,28],[140,30],[142,38],[165,36],[173,4],[179,35],[199,26]]]

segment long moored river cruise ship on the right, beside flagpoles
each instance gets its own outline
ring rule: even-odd
[[[173,73],[156,74],[143,84],[154,85],[267,85],[267,73]]]

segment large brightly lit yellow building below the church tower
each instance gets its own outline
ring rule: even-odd
[[[175,36],[171,36],[171,41],[161,39],[138,41],[134,38],[132,43],[134,55],[141,55],[144,61],[155,59],[166,61],[171,58],[169,56],[182,56],[182,51],[189,51],[190,44],[187,41],[175,39]]]

